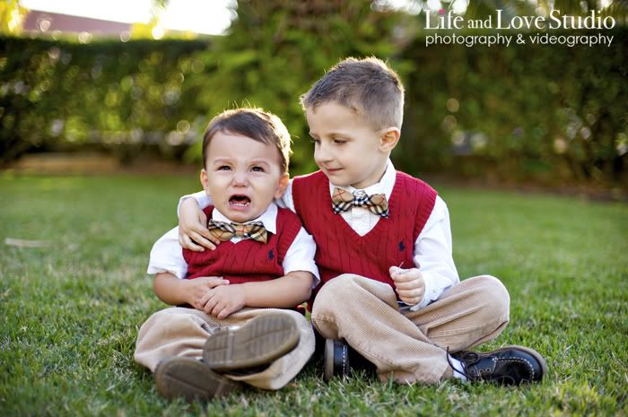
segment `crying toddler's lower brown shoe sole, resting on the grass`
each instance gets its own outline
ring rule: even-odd
[[[240,384],[216,374],[205,363],[191,358],[171,358],[155,370],[157,391],[166,398],[183,397],[188,402],[210,400],[238,389]]]

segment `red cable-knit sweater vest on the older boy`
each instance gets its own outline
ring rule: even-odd
[[[316,263],[323,284],[340,274],[359,274],[394,288],[388,268],[414,266],[414,242],[432,213],[436,195],[420,179],[397,171],[388,218],[380,218],[360,236],[332,211],[325,174],[317,171],[292,182],[295,210],[317,243]]]

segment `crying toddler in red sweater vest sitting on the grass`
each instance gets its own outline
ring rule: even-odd
[[[222,243],[205,253],[182,249],[177,228],[155,243],[155,293],[191,308],[153,314],[135,361],[169,398],[209,399],[236,381],[279,389],[314,352],[311,326],[294,308],[318,283],[313,239],[273,202],[288,185],[290,135],[261,109],[229,110],[210,122],[203,150],[201,183],[214,204],[205,226]]]

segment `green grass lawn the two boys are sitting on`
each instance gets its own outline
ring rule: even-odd
[[[145,274],[196,178],[0,176],[0,416],[626,415],[628,206],[437,187],[461,277],[493,274],[510,325],[484,349],[545,354],[533,387],[327,385],[310,365],[278,392],[168,402],[135,364],[135,335],[163,308]],[[4,239],[43,239],[15,248]]]

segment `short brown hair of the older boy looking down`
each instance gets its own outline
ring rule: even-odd
[[[334,65],[301,96],[303,110],[336,101],[358,112],[375,129],[401,128],[404,119],[404,85],[386,63],[375,57],[353,57]]]

